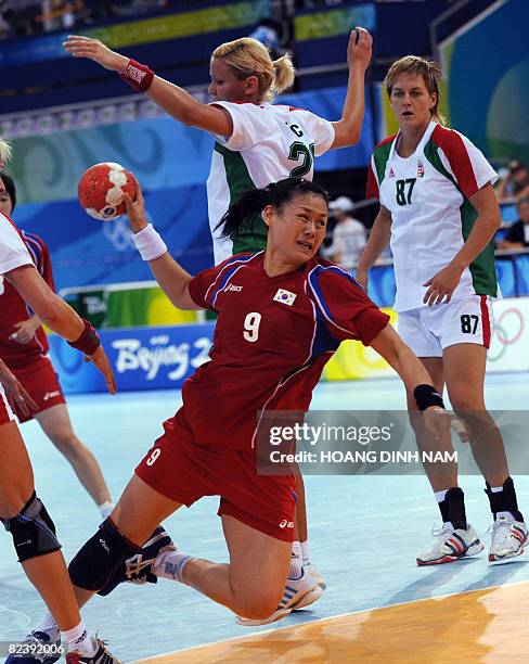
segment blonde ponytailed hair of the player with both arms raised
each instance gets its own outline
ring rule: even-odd
[[[223,60],[241,80],[256,76],[259,102],[272,101],[275,94],[284,92],[294,84],[296,71],[288,53],[272,61],[267,47],[251,37],[221,43],[215,49],[212,58]]]

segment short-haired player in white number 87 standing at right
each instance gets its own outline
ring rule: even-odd
[[[441,71],[409,55],[389,69],[386,86],[399,132],[375,150],[367,195],[380,210],[360,258],[357,280],[391,241],[399,334],[421,358],[455,412],[466,421],[474,458],[485,476],[494,518],[489,560],[524,552],[527,526],[509,477],[503,440],[483,399],[490,301],[498,295],[492,237],[501,225],[492,183],[496,174],[461,133],[438,115]],[[415,408],[408,392],[408,407]],[[415,427],[417,445],[426,445]],[[443,521],[417,564],[433,565],[483,549],[466,521],[457,469],[427,467]]]

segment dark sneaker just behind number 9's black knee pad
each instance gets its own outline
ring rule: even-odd
[[[176,551],[177,547],[172,544],[163,526],[158,526],[151,535],[150,539],[143,545],[141,553],[137,553],[122,562],[112,574],[106,584],[98,591],[98,595],[106,597],[116,586],[124,582],[132,584],[156,584],[158,577],[151,572],[156,558],[165,551]]]

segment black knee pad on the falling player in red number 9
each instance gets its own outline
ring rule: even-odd
[[[139,551],[141,547],[124,537],[108,516],[69,563],[72,583],[86,590],[100,590],[114,570]]]

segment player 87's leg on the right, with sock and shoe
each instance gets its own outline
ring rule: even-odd
[[[454,344],[444,349],[443,362],[450,401],[466,422],[474,458],[486,480],[494,518],[489,560],[504,562],[524,552],[528,529],[518,510],[501,433],[485,405],[487,350],[477,344]]]

